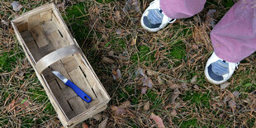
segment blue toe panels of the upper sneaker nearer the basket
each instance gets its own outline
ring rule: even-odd
[[[161,26],[164,14],[159,11],[159,9],[149,10],[147,17],[143,17],[145,26],[149,28],[157,28]]]

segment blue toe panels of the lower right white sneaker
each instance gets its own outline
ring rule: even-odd
[[[223,75],[230,73],[229,64],[218,60],[208,66],[208,73],[213,80],[221,81],[224,79]]]

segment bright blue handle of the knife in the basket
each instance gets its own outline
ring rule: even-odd
[[[91,102],[92,98],[89,97],[85,92],[83,92],[80,88],[78,88],[74,83],[72,83],[70,80],[68,80],[65,83],[67,86],[73,89],[74,92],[78,94],[79,97],[81,97],[85,102]]]

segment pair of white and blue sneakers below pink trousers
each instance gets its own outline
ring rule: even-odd
[[[168,25],[173,23],[176,19],[167,17],[160,8],[159,0],[151,2],[149,7],[143,13],[140,23],[147,31],[159,31]],[[221,84],[225,83],[235,72],[239,63],[231,63],[220,59],[213,52],[210,59],[208,59],[205,68],[206,79],[210,83]]]

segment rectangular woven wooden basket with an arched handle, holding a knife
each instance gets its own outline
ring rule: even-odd
[[[64,127],[73,127],[107,108],[109,95],[53,3],[22,14],[12,26]],[[84,102],[52,70],[73,81],[92,102]]]

